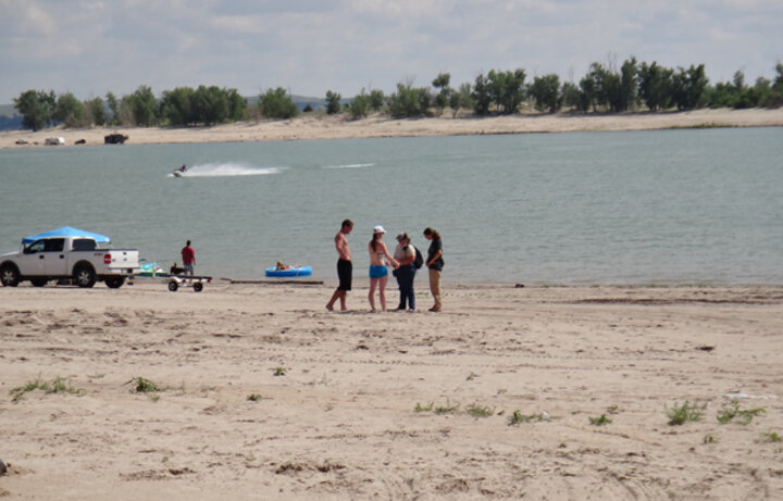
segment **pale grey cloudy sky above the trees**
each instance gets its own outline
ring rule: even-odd
[[[140,85],[348,97],[518,67],[579,82],[631,55],[772,79],[783,0],[0,0],[0,103]]]

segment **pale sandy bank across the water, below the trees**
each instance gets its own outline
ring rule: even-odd
[[[84,140],[87,146],[97,146],[103,145],[103,136],[114,131],[127,135],[127,145],[163,145],[781,126],[783,108],[587,115],[517,114],[464,118],[444,115],[407,120],[372,115],[358,121],[346,115],[307,114],[293,120],[249,121],[211,127],[54,127],[36,133],[3,131],[0,133],[0,149],[44,147],[48,137],[62,137],[64,147],[74,147],[78,140]],[[26,143],[18,145],[17,141]]]

